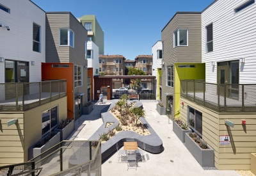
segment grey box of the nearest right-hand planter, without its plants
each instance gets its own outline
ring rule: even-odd
[[[209,147],[209,145],[207,145],[209,149],[202,149],[192,138],[190,138],[188,133],[186,133],[185,146],[202,167],[214,167],[214,150]]]

